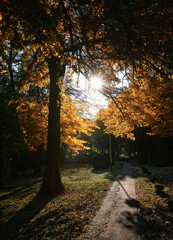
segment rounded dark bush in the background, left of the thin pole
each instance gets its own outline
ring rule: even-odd
[[[94,170],[104,170],[110,166],[110,159],[108,155],[99,153],[93,156],[92,166]]]

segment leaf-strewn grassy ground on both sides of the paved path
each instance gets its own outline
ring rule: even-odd
[[[118,174],[122,164],[115,167]],[[141,240],[172,240],[173,168],[134,167]],[[0,239],[80,239],[99,210],[114,176],[89,165],[62,169],[65,192],[38,196],[41,178],[15,181],[0,192]],[[163,190],[157,191],[156,185]]]

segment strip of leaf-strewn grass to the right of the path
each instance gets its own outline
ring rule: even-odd
[[[137,200],[140,203],[140,234],[146,240],[173,239],[173,212],[169,199],[173,197],[173,174],[151,171],[151,175],[136,172]],[[157,191],[156,185],[164,186]]]

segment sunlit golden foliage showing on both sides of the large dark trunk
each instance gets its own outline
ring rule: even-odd
[[[36,150],[40,144],[46,148],[48,125],[48,101],[38,101],[34,96],[28,99],[25,96],[17,102],[18,116],[26,145]],[[73,101],[70,96],[63,94],[61,102],[61,142],[65,143],[74,152],[88,149],[81,134],[90,135],[94,131],[95,123],[83,119],[79,111],[83,111],[83,103]]]

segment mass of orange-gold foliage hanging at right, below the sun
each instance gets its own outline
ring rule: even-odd
[[[133,75],[135,84],[131,82],[114,96],[115,102],[110,100],[108,109],[100,111],[98,117],[107,127],[105,131],[116,137],[126,135],[134,140],[135,127],[149,127],[150,135],[170,136],[173,134],[173,83],[148,71],[146,66],[140,66],[139,70],[139,74],[136,71]]]

